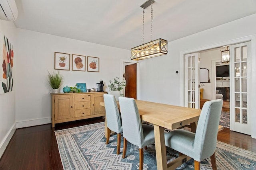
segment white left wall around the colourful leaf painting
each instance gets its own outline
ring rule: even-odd
[[[16,87],[16,74],[15,69],[17,67],[16,59],[17,55],[17,45],[16,45],[16,35],[15,26],[13,22],[0,20],[0,33],[5,35],[10,43],[13,45],[14,51],[14,89],[12,92],[0,94],[0,157],[2,156],[10,138],[12,137],[15,129],[15,87]],[[4,37],[1,37],[1,46],[4,43]],[[2,49],[2,48],[0,48]],[[0,57],[2,57],[3,51],[0,51]],[[0,65],[2,69],[2,63]],[[2,75],[0,75],[2,76]],[[2,82],[0,88],[2,88]]]

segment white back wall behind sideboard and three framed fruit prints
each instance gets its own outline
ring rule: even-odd
[[[87,88],[96,88],[104,81],[120,76],[121,60],[129,59],[130,51],[98,45],[64,37],[17,28],[18,66],[16,68],[16,122],[18,127],[27,127],[51,122],[51,88],[47,82],[47,70],[54,70],[54,52],[85,55],[100,58],[100,72],[60,70],[66,85],[86,83]],[[122,79],[122,78],[121,78]]]

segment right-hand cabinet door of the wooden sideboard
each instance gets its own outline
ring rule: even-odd
[[[100,106],[104,102],[103,94],[92,94],[92,115],[106,113],[105,107]]]

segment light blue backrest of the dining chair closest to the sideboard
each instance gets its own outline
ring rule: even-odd
[[[104,94],[107,127],[116,132],[122,133],[122,121],[116,104],[116,98],[112,94]]]

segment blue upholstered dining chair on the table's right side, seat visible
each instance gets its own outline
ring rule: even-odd
[[[165,134],[165,145],[193,158],[195,170],[200,170],[200,161],[209,157],[212,168],[217,169],[215,150],[222,104],[221,99],[204,103],[196,133],[178,129]]]

